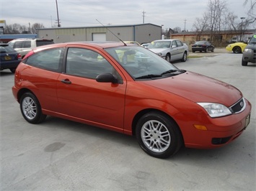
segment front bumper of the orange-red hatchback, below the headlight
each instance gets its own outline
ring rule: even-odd
[[[246,108],[241,113],[219,118],[197,114],[177,114],[175,120],[182,131],[185,146],[196,149],[213,149],[229,144],[242,134],[250,123],[251,103],[246,101]],[[182,121],[184,116],[187,121]],[[199,130],[195,125],[206,126]]]

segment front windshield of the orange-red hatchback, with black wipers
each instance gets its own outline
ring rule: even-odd
[[[111,47],[105,50],[135,80],[166,78],[184,72],[144,47]]]

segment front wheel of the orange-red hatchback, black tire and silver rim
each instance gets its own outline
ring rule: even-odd
[[[159,112],[146,113],[138,120],[136,139],[146,154],[160,159],[174,155],[183,144],[175,121]]]

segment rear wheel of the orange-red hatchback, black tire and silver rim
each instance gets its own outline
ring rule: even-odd
[[[19,102],[22,116],[30,124],[40,124],[46,118],[42,113],[39,101],[34,94],[27,92],[22,95]]]

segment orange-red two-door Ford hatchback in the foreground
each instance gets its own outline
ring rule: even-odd
[[[49,115],[135,135],[158,158],[224,146],[250,123],[237,88],[122,42],[37,47],[17,67],[12,92],[31,124]]]

